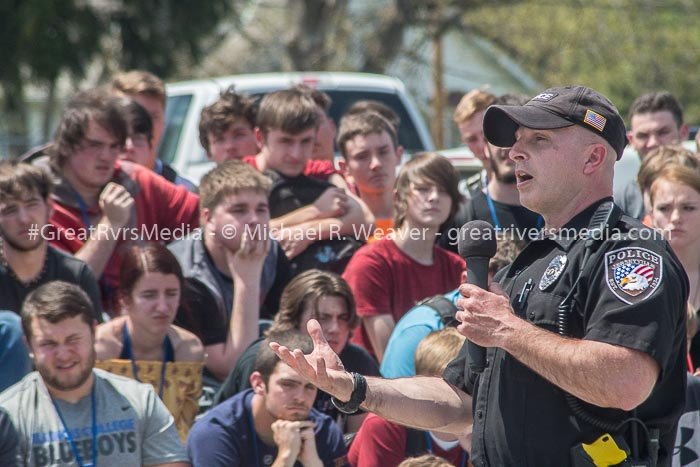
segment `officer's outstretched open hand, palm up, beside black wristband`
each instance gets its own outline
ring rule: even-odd
[[[319,322],[309,320],[306,329],[314,344],[310,354],[304,355],[301,350],[288,349],[278,342],[271,342],[270,348],[284,363],[320,390],[341,401],[349,400],[353,391],[352,375],[345,371],[340,357],[328,345]]]

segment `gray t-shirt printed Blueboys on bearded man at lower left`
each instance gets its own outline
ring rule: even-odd
[[[175,421],[150,385],[95,369],[98,465],[153,465],[187,461]],[[84,464],[92,459],[92,398],[56,400],[64,428],[39,373],[0,394],[19,432],[18,466],[76,466],[72,438]],[[67,432],[66,432],[67,430]]]

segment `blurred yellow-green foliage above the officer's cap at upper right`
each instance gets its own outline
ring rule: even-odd
[[[476,9],[464,27],[505,49],[543,86],[584,84],[623,115],[639,94],[666,89],[700,122],[698,0],[525,0]]]

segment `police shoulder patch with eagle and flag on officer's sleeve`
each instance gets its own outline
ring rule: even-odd
[[[646,248],[621,248],[605,254],[608,288],[625,303],[633,305],[649,298],[662,278],[663,259]]]

